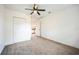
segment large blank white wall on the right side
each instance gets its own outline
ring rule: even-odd
[[[79,5],[41,19],[41,36],[79,48]]]

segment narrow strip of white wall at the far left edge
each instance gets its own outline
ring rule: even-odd
[[[0,54],[4,48],[4,6],[0,5]]]

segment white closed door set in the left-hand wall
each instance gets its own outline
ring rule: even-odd
[[[24,41],[27,36],[27,26],[26,19],[14,17],[13,19],[13,27],[14,27],[14,42]]]

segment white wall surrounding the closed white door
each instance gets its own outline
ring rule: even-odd
[[[16,41],[14,42],[14,39],[13,39],[13,17],[20,17],[20,18],[24,18],[26,19],[26,22],[27,22],[27,29],[28,29],[28,32],[27,32],[27,39],[25,40],[30,40],[31,39],[31,19],[30,19],[30,16],[27,16],[25,15],[24,13],[21,13],[19,11],[16,11],[16,10],[12,10],[12,9],[7,9],[6,8],[6,30],[5,30],[5,34],[6,34],[6,45],[9,45],[9,44],[13,44],[13,43],[16,43],[16,42],[19,42],[19,41],[25,41],[24,39],[22,40],[19,40],[19,41]]]

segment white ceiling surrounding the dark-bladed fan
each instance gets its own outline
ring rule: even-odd
[[[72,6],[71,4],[39,4],[39,8],[46,9],[46,11],[40,11],[41,15],[33,14],[33,17],[42,18],[47,16],[49,13],[54,14],[59,11],[62,11],[69,6]],[[17,10],[20,12],[25,13],[26,15],[30,15],[32,11],[25,10],[25,8],[32,8],[33,4],[5,4],[6,8]]]

